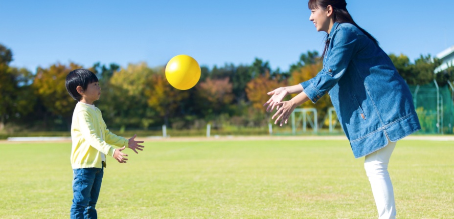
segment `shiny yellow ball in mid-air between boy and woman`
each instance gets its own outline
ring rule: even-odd
[[[200,79],[200,66],[188,55],[178,55],[165,66],[165,77],[170,85],[180,90],[194,87]]]

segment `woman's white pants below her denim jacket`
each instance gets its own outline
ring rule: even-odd
[[[377,205],[379,219],[395,219],[396,204],[391,178],[388,173],[388,163],[396,142],[390,142],[386,147],[366,155],[364,169],[369,177],[375,204]]]

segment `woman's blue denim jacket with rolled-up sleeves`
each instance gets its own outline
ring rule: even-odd
[[[314,103],[329,92],[355,158],[421,129],[407,83],[377,44],[337,22],[327,42],[323,69],[301,85]]]

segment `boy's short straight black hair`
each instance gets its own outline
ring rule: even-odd
[[[93,72],[83,68],[75,69],[66,76],[66,90],[74,100],[80,101],[82,96],[77,92],[77,86],[86,90],[93,82],[98,82],[98,77]]]

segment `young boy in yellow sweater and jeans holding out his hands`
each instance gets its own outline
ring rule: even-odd
[[[129,140],[110,132],[101,116],[101,111],[93,105],[99,100],[101,88],[98,78],[91,71],[76,69],[66,77],[66,89],[78,101],[72,115],[71,124],[71,165],[74,178],[72,190],[74,198],[71,206],[71,219],[97,218],[95,206],[101,189],[101,181],[106,167],[106,155],[119,163],[126,163],[128,154],[122,153],[125,147],[142,151],[143,146],[136,141],[136,135]],[[112,145],[121,147],[115,149]]]

